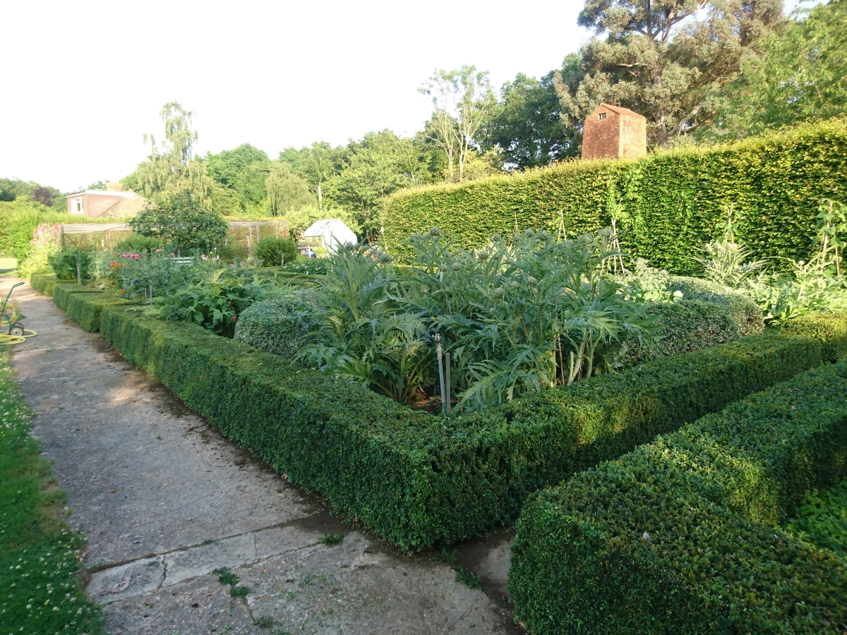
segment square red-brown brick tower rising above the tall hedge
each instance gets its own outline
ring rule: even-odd
[[[638,158],[647,154],[647,120],[628,108],[601,103],[585,119],[583,158]]]

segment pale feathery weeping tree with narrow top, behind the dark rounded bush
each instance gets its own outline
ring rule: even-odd
[[[150,154],[124,179],[124,184],[153,202],[189,195],[208,204],[213,182],[194,156],[197,130],[191,130],[191,119],[195,113],[182,108],[179,102],[169,102],[159,116],[164,123],[161,147],[152,133],[145,134],[144,145],[150,144]]]

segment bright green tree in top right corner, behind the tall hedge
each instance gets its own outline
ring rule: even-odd
[[[743,137],[847,112],[847,0],[799,8],[751,56],[706,137]]]

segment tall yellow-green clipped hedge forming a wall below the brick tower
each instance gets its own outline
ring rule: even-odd
[[[734,144],[656,152],[639,161],[573,161],[463,185],[397,192],[384,206],[383,244],[432,226],[468,247],[494,233],[545,228],[567,235],[611,226],[610,192],[629,229],[623,249],[671,273],[721,235],[734,206],[738,238],[756,257],[805,259],[822,198],[847,202],[847,123],[804,125]],[[777,261],[779,265],[782,261]]]

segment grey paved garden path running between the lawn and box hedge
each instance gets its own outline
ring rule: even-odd
[[[0,278],[0,292],[18,280]],[[91,598],[112,635],[519,632],[505,601],[511,535],[459,549],[483,578],[458,583],[331,516],[189,411],[29,285],[14,347],[70,524],[86,534]],[[346,532],[340,546],[319,542]],[[230,567],[245,598],[213,569]]]

